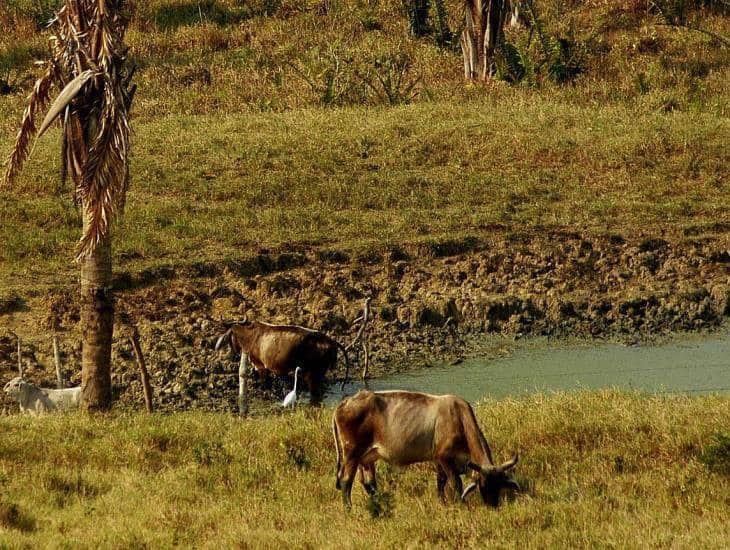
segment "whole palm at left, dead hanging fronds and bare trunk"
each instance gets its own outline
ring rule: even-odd
[[[60,118],[61,177],[74,184],[83,230],[76,250],[81,267],[81,385],[89,410],[111,405],[114,330],[111,222],[129,184],[129,109],[135,88],[126,66],[124,33],[134,11],[129,0],[66,0],[51,21],[51,59],[35,84],[5,175],[17,177],[31,140]],[[61,90],[43,123],[52,88]]]

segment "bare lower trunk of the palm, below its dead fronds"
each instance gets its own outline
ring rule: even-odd
[[[84,232],[89,223],[83,205]],[[112,403],[111,354],[114,333],[111,235],[81,260],[81,395],[89,411],[106,410]]]

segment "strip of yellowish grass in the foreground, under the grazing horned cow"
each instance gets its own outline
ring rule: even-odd
[[[442,506],[429,467],[334,489],[330,410],[0,418],[0,545],[722,548],[727,398],[601,392],[489,401],[497,456],[526,487],[499,510]]]

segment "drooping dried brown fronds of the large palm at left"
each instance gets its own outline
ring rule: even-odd
[[[109,234],[124,206],[129,183],[129,109],[135,87],[126,66],[124,34],[131,0],[66,0],[50,25],[52,59],[38,79],[8,163],[12,182],[30,155],[31,140],[60,120],[61,177],[71,176],[74,196],[84,209],[84,233],[77,258],[89,255]],[[50,89],[61,93],[40,129],[36,119],[49,103]],[[60,115],[60,116],[59,116]]]

